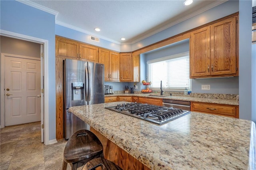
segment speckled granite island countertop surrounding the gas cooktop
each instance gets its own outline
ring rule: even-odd
[[[256,169],[255,123],[191,112],[162,126],[104,107],[70,107],[84,122],[151,169]]]

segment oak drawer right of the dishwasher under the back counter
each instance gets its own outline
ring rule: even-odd
[[[221,105],[213,103],[191,102],[191,111],[200,113],[210,113],[227,117],[236,117],[236,106]]]

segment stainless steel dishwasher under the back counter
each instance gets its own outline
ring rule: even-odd
[[[163,106],[190,111],[190,101],[163,99]]]

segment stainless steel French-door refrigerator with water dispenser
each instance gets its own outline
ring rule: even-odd
[[[69,139],[89,125],[68,112],[69,107],[104,103],[104,65],[87,61],[64,60],[64,137]]]

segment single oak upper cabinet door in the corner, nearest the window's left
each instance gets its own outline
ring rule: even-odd
[[[120,81],[132,81],[132,53],[120,54]]]

